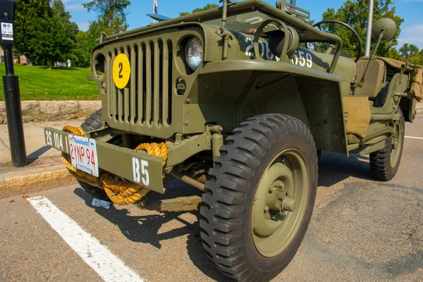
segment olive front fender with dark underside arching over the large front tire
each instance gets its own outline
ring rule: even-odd
[[[209,81],[214,81],[214,91],[202,87]],[[243,91],[240,81],[248,82]],[[317,149],[348,154],[338,75],[277,61],[228,60],[207,63],[198,84],[205,121],[210,122],[210,106],[219,108],[221,118],[212,122],[223,125],[225,133],[257,114],[287,114],[309,127]],[[235,115],[237,122],[228,124]]]

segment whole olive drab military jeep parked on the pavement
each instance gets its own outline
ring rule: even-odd
[[[405,121],[422,97],[422,69],[376,57],[396,32],[374,23],[362,57],[357,32],[278,1],[231,2],[101,35],[92,79],[102,110],[80,128],[46,128],[82,188],[115,204],[198,209],[204,250],[224,275],[269,281],[293,259],[312,216],[321,150],[369,154],[378,180],[400,164]],[[357,58],[341,56],[343,25]],[[317,51],[310,43],[326,46]],[[307,45],[308,44],[308,45]],[[201,190],[149,201],[178,178]]]

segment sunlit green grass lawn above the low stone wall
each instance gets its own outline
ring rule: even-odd
[[[21,100],[99,100],[94,81],[88,81],[89,68],[51,68],[15,64],[19,77]],[[0,76],[6,74],[0,63]],[[4,101],[3,79],[0,79],[0,101]]]

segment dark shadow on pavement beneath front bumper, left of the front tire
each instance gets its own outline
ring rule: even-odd
[[[164,195],[159,193],[150,192],[151,196],[149,200],[159,200],[164,198],[182,197],[186,195],[200,195],[201,192],[197,192],[195,188],[191,188],[188,185],[178,181],[172,180],[166,185],[166,192]],[[92,207],[92,196],[89,195],[82,188],[76,188],[74,191],[75,195],[85,201],[87,206]],[[148,195],[147,195],[148,197]],[[202,273],[215,281],[231,281],[217,269],[214,268],[211,262],[207,259],[207,255],[204,253],[202,242],[200,238],[200,227],[197,223],[189,223],[184,219],[180,219],[180,214],[185,212],[163,212],[155,213],[146,216],[133,216],[130,215],[128,209],[116,209],[113,205],[110,209],[104,209],[102,207],[92,207],[97,214],[103,216],[105,219],[114,223],[121,230],[122,234],[125,235],[128,240],[135,243],[148,243],[161,249],[161,241],[172,238],[177,238],[183,235],[188,235],[187,238],[187,251],[192,263]],[[198,212],[190,212],[198,218]],[[165,223],[172,221],[173,219],[183,223],[184,226],[173,229],[166,233],[158,234],[159,229]]]

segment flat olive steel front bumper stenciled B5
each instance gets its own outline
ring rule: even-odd
[[[69,135],[73,134],[54,128],[44,128],[46,144],[66,154],[70,154]],[[99,168],[150,190],[164,193],[162,158],[99,140],[96,140],[96,149]]]

